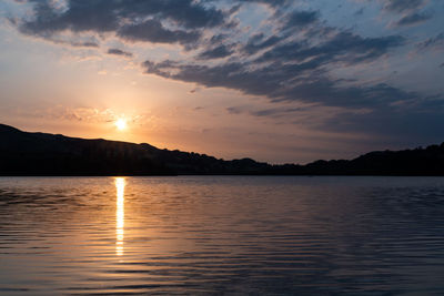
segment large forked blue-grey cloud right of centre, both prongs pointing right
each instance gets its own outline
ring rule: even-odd
[[[262,33],[255,34],[248,40],[243,51],[254,53],[266,50],[255,59],[242,59],[242,62],[209,65],[199,61],[193,63],[167,60],[158,63],[145,61],[143,67],[147,73],[208,88],[221,86],[246,94],[264,95],[274,102],[305,101],[332,106],[374,108],[413,98],[413,94],[386,84],[341,88],[342,81],[327,78],[326,67],[374,61],[389,50],[402,45],[402,37],[363,38],[333,29],[325,37],[324,28],[317,30],[321,32],[317,39],[324,41],[314,45],[307,40],[286,41],[286,37],[282,35],[265,38]],[[225,53],[224,48],[215,49]],[[215,53],[216,51],[206,52],[209,57],[216,57]]]

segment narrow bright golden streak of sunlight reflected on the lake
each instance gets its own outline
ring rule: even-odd
[[[115,254],[123,255],[123,234],[124,234],[124,177],[115,178]]]

